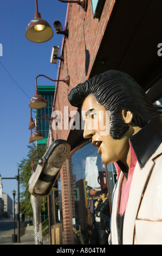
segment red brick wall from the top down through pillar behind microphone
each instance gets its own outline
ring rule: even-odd
[[[67,86],[64,82],[59,82],[55,91],[55,110],[61,111],[64,115],[64,106],[69,107],[69,111],[76,108],[70,106],[67,95],[70,90],[77,86],[78,83],[88,79],[96,54],[105,32],[109,16],[111,15],[115,0],[106,0],[99,19],[93,19],[92,2],[88,0],[88,8],[85,12],[80,5],[73,3],[68,4],[68,30],[69,36],[65,38],[62,47],[62,55],[64,62],[60,62],[60,73],[57,79],[62,80],[67,75],[70,76],[70,85]],[[89,54],[89,62],[86,62],[86,54]],[[88,59],[87,59],[88,60]],[[86,65],[88,68],[86,69]],[[68,118],[68,114],[65,118]],[[64,122],[64,117],[62,123]],[[66,139],[68,138],[69,129],[53,130],[53,138]],[[67,162],[67,161],[66,161]],[[72,220],[70,220],[69,207],[72,205],[72,217],[75,217],[74,208],[74,193],[73,186],[71,198],[68,194],[68,165],[63,164],[61,169],[61,192],[62,192],[62,209],[63,209],[63,230],[64,243],[72,244]],[[69,160],[70,184],[73,184],[72,162]]]

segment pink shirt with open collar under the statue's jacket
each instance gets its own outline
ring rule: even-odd
[[[126,179],[124,176],[122,180],[122,186],[121,186],[121,197],[120,197],[120,205],[119,205],[119,214],[121,216],[125,214],[133,172],[134,172],[135,164],[137,163],[137,157],[135,156],[131,142],[129,142],[129,146],[130,146],[130,162],[129,162],[128,178]],[[114,164],[116,168],[117,177],[119,178],[121,169],[118,166],[118,163],[114,163]]]

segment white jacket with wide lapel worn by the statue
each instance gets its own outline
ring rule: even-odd
[[[119,244],[116,218],[119,212],[119,194],[123,175],[121,172],[113,194],[111,217],[113,245]],[[143,168],[140,167],[139,162],[135,166],[122,237],[124,245],[162,245],[162,143],[147,159]]]

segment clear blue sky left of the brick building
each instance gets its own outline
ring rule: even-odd
[[[0,56],[2,178],[17,175],[18,163],[28,153],[29,101],[34,96],[35,77],[43,74],[57,79],[59,61],[57,64],[50,63],[50,55],[53,45],[60,46],[61,51],[63,36],[56,34],[53,22],[60,20],[64,28],[67,3],[38,0],[38,11],[54,31],[53,38],[42,44],[25,38],[27,25],[34,18],[35,0],[0,0],[0,44],[3,46],[3,56]],[[39,77],[37,83],[54,85],[44,77]],[[2,180],[2,184],[3,192],[12,199],[13,188],[17,193],[17,181]]]

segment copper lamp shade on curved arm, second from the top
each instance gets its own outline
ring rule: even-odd
[[[46,100],[40,95],[38,90],[35,90],[35,95],[34,97],[31,98],[29,107],[34,108],[34,109],[39,109],[47,106]]]

